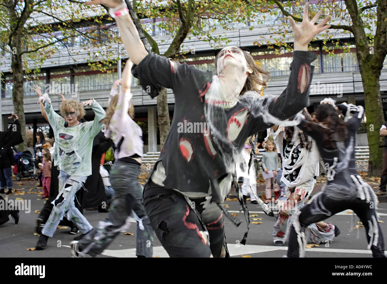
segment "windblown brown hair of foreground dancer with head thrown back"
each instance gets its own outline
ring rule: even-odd
[[[250,67],[253,70],[253,73],[249,74],[246,79],[246,83],[243,86],[240,95],[245,94],[247,91],[255,91],[257,93],[261,93],[262,90],[264,90],[267,87],[267,80],[270,78],[270,73],[268,71],[263,70],[257,64],[255,64],[253,56],[248,53],[247,51],[244,51],[240,49],[243,52],[243,55],[245,56],[245,59],[247,61],[247,66]],[[215,69],[216,69],[216,62],[220,56],[220,52],[216,54],[215,57]],[[218,70],[216,69],[215,74],[218,75]],[[264,80],[264,75],[266,80]],[[262,87],[260,87],[262,86]]]

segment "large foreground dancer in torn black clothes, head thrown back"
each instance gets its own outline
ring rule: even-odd
[[[307,52],[313,37],[329,28],[315,22],[319,12],[296,25],[288,87],[279,97],[261,97],[268,72],[255,65],[251,54],[235,46],[216,56],[216,75],[192,65],[148,54],[124,1],[94,0],[115,15],[122,41],[135,66],[132,73],[155,97],[161,86],[173,89],[175,113],[171,130],[144,189],[144,203],[153,229],[171,257],[221,257],[227,255],[223,214],[218,206],[231,188],[235,164],[245,140],[308,105],[317,55]],[[206,123],[202,133],[180,133],[184,121]],[[188,131],[187,131],[188,132]],[[208,230],[208,231],[207,231]],[[209,243],[208,243],[209,235]]]

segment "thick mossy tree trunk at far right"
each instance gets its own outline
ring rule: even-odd
[[[373,60],[369,60],[368,56],[363,56],[363,58],[365,60],[363,62],[359,61],[359,68],[364,88],[366,131],[370,148],[368,177],[378,177],[383,166],[382,148],[379,148],[379,146],[384,143],[379,135],[379,128],[384,123],[379,84],[380,69],[375,66]]]

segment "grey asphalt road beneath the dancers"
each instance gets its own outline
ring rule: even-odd
[[[27,190],[28,191],[28,190]],[[37,190],[32,190],[36,192]],[[4,197],[4,195],[3,195]],[[21,196],[9,196],[9,199],[22,198],[24,204],[31,203],[30,212],[21,211],[19,224],[14,224],[12,219],[0,226],[0,257],[71,257],[70,248],[68,247],[74,235],[70,235],[70,228],[58,229],[53,238],[48,240],[48,246],[41,251],[28,251],[27,248],[35,247],[38,241],[38,236],[34,235],[35,219],[38,217],[35,210],[41,210],[45,200],[40,199],[37,193],[24,194]],[[39,199],[39,200],[38,200]],[[382,231],[385,233],[384,241],[386,243],[387,235],[387,203],[386,197],[380,197],[379,215],[380,220],[385,223],[380,223]],[[272,241],[272,226],[276,219],[265,215],[262,209],[248,202],[250,214],[257,214],[262,218],[261,224],[250,224],[250,231],[247,238],[247,244],[241,245],[239,242],[247,229],[243,213],[239,213],[240,205],[237,201],[225,201],[228,204],[228,210],[231,213],[238,214],[237,218],[243,220],[243,223],[236,227],[227,218],[225,218],[224,228],[226,230],[226,238],[228,249],[233,257],[241,257],[242,255],[250,255],[251,257],[282,257],[286,254],[287,247],[277,247]],[[365,229],[359,227],[353,229],[356,222],[359,221],[355,214],[350,214],[350,210],[343,211],[335,216],[332,216],[328,221],[337,225],[341,234],[337,236],[329,247],[325,244],[319,247],[313,247],[306,250],[306,257],[372,257],[370,251],[366,250],[367,241]],[[84,211],[85,217],[89,222],[96,226],[98,221],[106,218],[108,213],[98,213],[98,211]],[[134,220],[132,220],[134,221]],[[99,257],[135,257],[136,243],[136,223],[132,223],[127,230],[128,233],[134,235],[124,235],[120,233],[105,250],[103,255]],[[379,235],[380,237],[380,235]],[[161,243],[154,236],[154,257],[168,257]]]

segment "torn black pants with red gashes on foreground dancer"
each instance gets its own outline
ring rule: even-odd
[[[199,217],[185,197],[151,180],[144,189],[144,204],[153,230],[170,257],[221,256],[225,245],[223,213],[210,197],[191,199],[209,233],[209,243]]]

